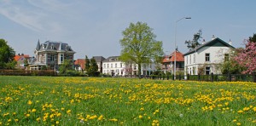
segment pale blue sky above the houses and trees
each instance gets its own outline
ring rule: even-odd
[[[119,55],[122,31],[131,22],[146,22],[156,40],[170,54],[174,49],[175,22],[177,48],[202,30],[202,39],[212,35],[232,41],[236,48],[256,33],[255,0],[0,0],[0,38],[16,54],[30,54],[38,39],[68,43],[75,58]],[[201,39],[201,40],[202,40]]]

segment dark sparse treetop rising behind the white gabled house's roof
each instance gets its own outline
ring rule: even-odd
[[[202,31],[199,30],[197,33],[194,34],[193,40],[185,41],[185,44],[187,44],[188,49],[195,49],[197,46],[200,45],[199,41],[201,38]]]

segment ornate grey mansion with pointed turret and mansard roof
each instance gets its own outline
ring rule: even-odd
[[[40,43],[38,40],[34,54],[36,60],[30,65],[31,70],[41,70],[42,66],[58,70],[65,60],[73,61],[75,52],[67,43],[55,41]]]

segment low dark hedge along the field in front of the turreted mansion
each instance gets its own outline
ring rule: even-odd
[[[1,75],[8,76],[55,76],[53,70],[26,71],[26,70],[0,70]]]

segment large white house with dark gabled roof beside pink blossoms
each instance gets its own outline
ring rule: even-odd
[[[218,37],[205,41],[195,49],[184,54],[184,74],[220,74],[218,65],[224,60],[229,60],[230,50],[235,49],[230,43],[225,43]]]

